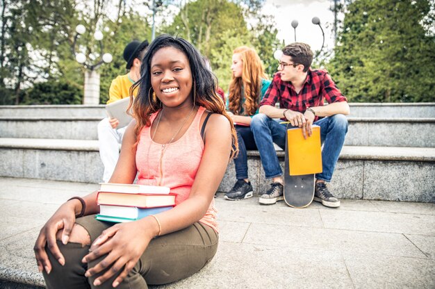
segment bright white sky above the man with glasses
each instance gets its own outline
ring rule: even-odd
[[[277,38],[284,40],[285,44],[295,42],[295,29],[291,22],[297,20],[297,42],[305,42],[315,51],[322,47],[322,31],[311,22],[315,16],[320,18],[320,25],[325,32],[325,47],[331,49],[334,46],[334,13],[329,10],[331,4],[332,0],[266,0],[262,11],[274,16],[279,31]]]

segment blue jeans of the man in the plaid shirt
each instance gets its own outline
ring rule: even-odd
[[[341,148],[345,142],[347,133],[347,119],[344,115],[332,115],[324,117],[314,122],[320,126],[320,139],[323,144],[322,167],[323,172],[316,174],[316,179],[331,181],[334,168],[340,155]],[[281,149],[286,147],[286,124],[271,119],[263,113],[258,113],[252,117],[251,130],[258,152],[260,153],[261,163],[265,172],[265,177],[270,179],[275,176],[282,176],[279,166],[277,153],[273,142]]]

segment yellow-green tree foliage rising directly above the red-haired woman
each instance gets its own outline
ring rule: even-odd
[[[236,47],[256,49],[266,72],[274,69],[273,51],[277,48],[277,29],[271,17],[262,15],[263,0],[197,0],[180,7],[174,22],[163,28],[194,44],[210,62],[220,86],[227,90],[231,81],[231,56]],[[250,26],[246,19],[256,22]]]

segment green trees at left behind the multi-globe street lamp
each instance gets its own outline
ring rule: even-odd
[[[83,24],[86,31],[74,51],[90,56],[88,65],[95,65],[101,57],[100,43],[93,37],[96,30],[104,34],[104,52],[113,55],[112,63],[99,67],[101,102],[105,102],[111,80],[126,73],[125,45],[149,39],[151,34],[147,19],[123,0],[2,0],[1,5],[0,104],[39,103],[38,98],[29,99],[35,95],[33,86],[51,80],[68,83],[62,87],[71,88],[74,95],[75,88],[81,88],[83,95],[85,67],[72,53],[77,24]],[[65,99],[54,94],[51,103],[69,103]]]

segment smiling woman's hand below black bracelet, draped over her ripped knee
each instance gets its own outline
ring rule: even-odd
[[[42,227],[38,239],[36,239],[35,247],[33,247],[39,272],[42,272],[42,270],[45,270],[47,274],[51,272],[51,263],[45,251],[45,245],[49,247],[51,254],[54,255],[60,265],[65,265],[65,258],[60,253],[56,243],[56,233],[63,229],[62,242],[67,244],[74,222],[76,222],[75,212],[80,210],[81,203],[78,200],[67,201],[56,210],[56,213]]]

